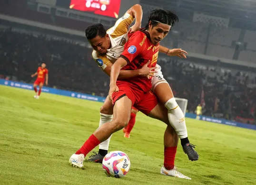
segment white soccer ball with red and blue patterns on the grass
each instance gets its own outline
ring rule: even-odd
[[[116,178],[124,177],[130,168],[129,157],[121,151],[108,153],[102,161],[102,167],[107,176]]]

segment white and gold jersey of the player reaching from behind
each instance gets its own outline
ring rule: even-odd
[[[110,38],[111,48],[107,50],[106,54],[100,54],[93,50],[92,57],[103,71],[110,63],[114,64],[119,55],[124,51],[124,45],[128,41],[128,27],[133,20],[134,18],[126,13],[117,20],[112,28],[108,29],[107,34]]]

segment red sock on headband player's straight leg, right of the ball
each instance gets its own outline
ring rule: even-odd
[[[177,147],[165,147],[165,169],[171,170],[174,168],[174,160],[177,152]]]

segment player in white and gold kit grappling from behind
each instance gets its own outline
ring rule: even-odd
[[[136,18],[134,26],[129,30],[128,27]],[[124,50],[124,45],[128,41],[128,32],[134,32],[140,29],[142,19],[142,9],[140,5],[134,5],[131,7],[123,17],[117,20],[114,27],[106,30],[101,24],[95,24],[89,26],[86,29],[86,37],[88,38],[91,46],[93,47],[92,56],[98,63],[98,66],[110,76],[111,66],[118,59],[119,55]],[[143,40],[141,45],[143,45]],[[160,46],[159,51],[169,56],[178,56],[186,58],[186,51],[182,49],[168,49]],[[194,145],[189,143],[187,137],[187,127],[184,118],[183,111],[177,105],[177,102],[173,96],[172,90],[164,79],[161,72],[161,67],[157,65],[156,71],[154,68],[148,68],[144,65],[138,70],[121,70],[118,79],[131,78],[134,76],[148,74],[154,74],[152,79],[152,91],[157,95],[160,102],[165,104],[168,110],[168,119],[171,126],[176,130],[177,135],[181,140],[181,145],[184,152],[187,154],[189,160],[198,160],[198,154],[194,150]],[[113,107],[111,102],[106,98],[103,106],[100,108],[100,123],[99,126],[112,120]],[[101,163],[103,157],[108,153],[109,137],[106,141],[99,145],[99,152],[96,155],[90,157],[90,161]]]

